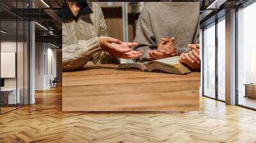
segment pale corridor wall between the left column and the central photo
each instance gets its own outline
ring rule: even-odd
[[[54,77],[56,77],[56,49],[49,43],[36,43],[35,89],[51,88],[50,80]]]

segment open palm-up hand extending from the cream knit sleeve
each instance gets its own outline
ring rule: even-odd
[[[98,41],[102,50],[118,58],[136,59],[142,53],[141,51],[137,52],[130,49],[135,43],[123,43],[118,39],[107,36],[100,36]]]

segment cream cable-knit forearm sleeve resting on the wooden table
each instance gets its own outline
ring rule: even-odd
[[[86,64],[92,55],[99,52],[100,46],[97,37],[90,40],[78,40],[72,45],[62,47],[62,68],[63,70],[77,70]]]

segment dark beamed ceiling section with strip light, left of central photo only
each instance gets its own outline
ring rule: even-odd
[[[2,38],[10,40],[16,36],[20,38],[24,35],[24,26],[20,25],[24,21],[35,20],[36,41],[47,40],[61,47],[62,3],[63,0],[30,0],[30,3],[29,0],[1,0],[1,29],[8,32]],[[17,24],[13,22],[16,20]],[[25,31],[27,30],[25,28]]]

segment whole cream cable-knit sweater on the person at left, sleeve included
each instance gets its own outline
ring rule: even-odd
[[[118,59],[102,51],[97,37],[107,35],[107,26],[100,6],[90,3],[93,13],[78,20],[62,23],[62,68],[77,70],[89,60],[93,63],[118,63]]]

